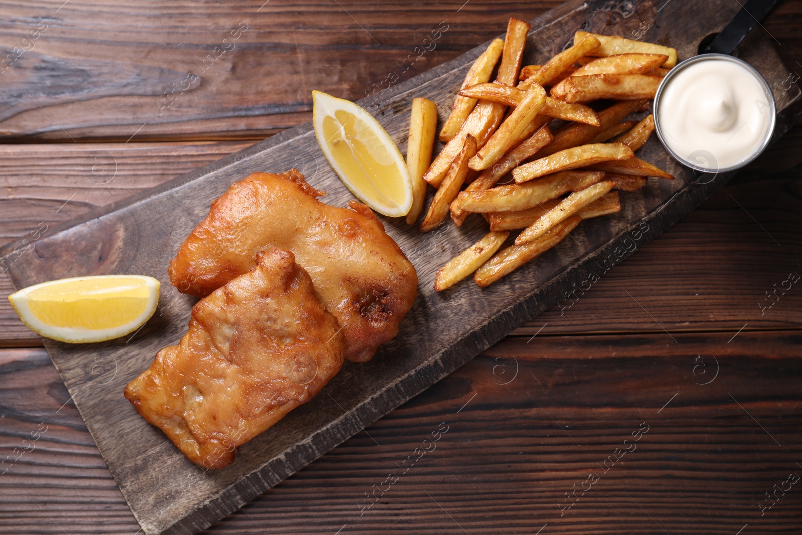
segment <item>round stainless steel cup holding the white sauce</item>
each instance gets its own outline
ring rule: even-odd
[[[662,128],[660,128],[660,113],[659,113],[659,111],[660,111],[660,97],[662,95],[663,89],[665,89],[665,87],[666,87],[666,84],[670,83],[671,79],[673,79],[674,76],[676,76],[678,74],[678,72],[682,71],[683,68],[687,67],[688,65],[691,65],[691,63],[696,63],[696,62],[704,61],[704,60],[707,60],[707,59],[723,59],[725,61],[731,61],[733,63],[738,63],[739,65],[741,65],[742,67],[747,69],[747,71],[750,71],[753,75],[755,75],[755,78],[759,81],[760,85],[763,87],[764,93],[766,94],[766,102],[768,102],[768,109],[766,111],[768,111],[768,113],[771,114],[770,115],[770,119],[769,119],[770,123],[768,124],[768,128],[766,129],[766,136],[765,136],[764,140],[761,142],[759,148],[751,156],[749,156],[746,160],[742,160],[738,164],[731,165],[730,167],[727,167],[727,168],[716,167],[715,169],[706,169],[706,168],[699,167],[699,161],[698,160],[697,161],[691,161],[691,160],[688,160],[686,157],[679,156],[676,152],[672,151],[671,148],[669,147],[669,145],[666,143],[666,139],[665,139],[665,136],[664,136],[664,134],[662,132]],[[681,112],[681,111],[678,110],[678,112]],[[660,82],[660,85],[657,88],[657,92],[654,94],[654,106],[653,106],[652,114],[654,116],[654,130],[657,132],[657,136],[658,136],[658,138],[660,138],[660,141],[662,142],[663,147],[666,148],[666,151],[668,151],[668,153],[671,156],[674,156],[674,160],[677,160],[680,164],[686,165],[687,167],[690,167],[690,168],[694,169],[695,171],[699,171],[699,172],[735,171],[735,169],[740,169],[740,168],[743,168],[746,165],[750,164],[751,161],[755,160],[755,158],[760,156],[760,153],[764,152],[765,148],[768,147],[769,142],[772,140],[772,135],[774,134],[774,128],[775,128],[776,122],[777,122],[777,106],[776,106],[776,103],[774,101],[774,95],[772,95],[772,88],[769,87],[768,82],[766,82],[766,79],[764,79],[764,77],[762,75],[760,75],[760,73],[755,69],[755,67],[752,67],[749,63],[746,63],[745,61],[743,61],[743,59],[738,59],[738,58],[735,58],[735,56],[726,55],[726,54],[700,54],[700,55],[694,56],[693,58],[688,58],[685,61],[678,63],[676,65],[676,67],[671,69],[668,72],[668,74],[663,77],[662,82]],[[689,155],[689,156],[696,155],[698,158],[704,158],[705,157],[705,154],[704,154],[705,151],[698,151],[698,152],[699,152],[699,154],[697,152],[692,152],[691,155]],[[710,155],[710,156],[715,158],[715,156],[713,156],[713,155]]]

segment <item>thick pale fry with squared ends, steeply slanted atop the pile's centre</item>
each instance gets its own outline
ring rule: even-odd
[[[546,91],[543,87],[537,85],[530,87],[520,100],[520,106],[512,111],[484,147],[476,152],[476,156],[468,162],[468,167],[474,171],[483,171],[500,160],[532,124],[537,113],[543,108],[545,99]]]

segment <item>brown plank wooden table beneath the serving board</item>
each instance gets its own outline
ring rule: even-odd
[[[62,2],[0,15],[0,245],[309,120],[313,88],[358,99],[558,3]],[[790,0],[763,23],[789,80],[800,23]],[[209,533],[799,533],[802,286],[780,288],[802,274],[800,148],[797,125],[590,290]],[[0,347],[0,533],[136,533],[7,303]]]

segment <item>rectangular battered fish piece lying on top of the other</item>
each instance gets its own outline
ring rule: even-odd
[[[342,367],[340,326],[293,253],[257,265],[201,299],[179,345],[156,354],[125,397],[203,468],[306,403]]]

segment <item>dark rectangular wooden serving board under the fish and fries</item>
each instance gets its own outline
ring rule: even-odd
[[[723,0],[569,2],[533,21],[525,63],[541,63],[561,51],[577,29],[670,45],[685,59],[738,7],[738,2]],[[411,99],[434,100],[444,119],[482,50],[484,46],[476,47],[362,104],[405,152]],[[788,70],[762,30],[747,37],[738,55],[772,87],[787,87],[783,81]],[[775,96],[780,136],[799,116],[800,91],[793,85]],[[245,444],[237,460],[217,472],[188,461],[136,413],[123,389],[148,367],[156,351],[186,332],[196,300],[170,286],[168,262],[209,203],[233,180],[253,171],[296,167],[316,188],[329,192],[326,202],[342,206],[352,198],[319,151],[310,124],[108,206],[88,221],[54,229],[33,247],[10,245],[2,261],[17,288],[87,274],[148,274],[162,281],[160,310],[136,334],[101,344],[44,344],[144,533],[196,533],[468,362],[574,287],[586,291],[593,278],[678,221],[732,176],[695,176],[671,160],[654,136],[638,156],[677,179],[650,179],[641,191],[622,193],[622,212],[583,222],[571,238],[484,290],[471,281],[441,294],[432,290],[435,271],[486,231],[480,217],[469,218],[459,229],[448,222],[427,234],[385,219],[388,233],[407,253],[420,280],[419,297],[399,336],[370,363],[346,363],[315,399]]]

